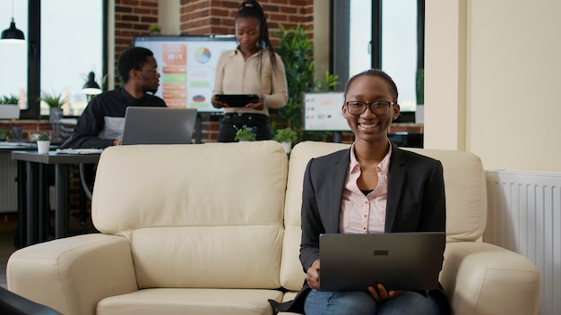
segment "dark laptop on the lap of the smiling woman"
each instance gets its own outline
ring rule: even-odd
[[[320,290],[432,290],[438,286],[444,232],[321,234]]]

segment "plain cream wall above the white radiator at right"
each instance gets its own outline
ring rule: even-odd
[[[426,148],[561,172],[559,12],[550,0],[427,1]]]

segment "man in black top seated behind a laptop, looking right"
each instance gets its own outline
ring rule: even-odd
[[[131,47],[119,56],[123,86],[92,98],[78,119],[72,137],[61,149],[105,149],[120,144],[128,106],[166,106],[154,96],[160,85],[158,63],[150,49]],[[149,94],[150,93],[150,94]]]

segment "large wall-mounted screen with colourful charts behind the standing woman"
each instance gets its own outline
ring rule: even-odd
[[[156,93],[170,107],[221,112],[211,105],[216,64],[220,54],[236,48],[232,36],[135,36],[134,46],[154,53],[160,71]]]

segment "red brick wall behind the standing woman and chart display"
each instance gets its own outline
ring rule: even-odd
[[[314,0],[261,0],[259,3],[267,17],[273,46],[279,41],[276,34],[280,25],[290,28],[300,23],[313,37]],[[180,32],[182,35],[234,34],[239,4],[239,0],[180,0]],[[148,26],[156,22],[158,0],[116,0],[115,60],[133,45],[134,35],[149,35]],[[201,114],[203,142],[217,140],[219,118],[219,115]]]

